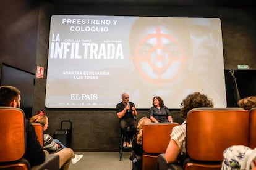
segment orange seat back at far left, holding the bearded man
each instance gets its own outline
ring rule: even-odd
[[[26,146],[24,112],[19,108],[0,107],[0,118],[0,169],[28,169],[26,163],[19,161]]]

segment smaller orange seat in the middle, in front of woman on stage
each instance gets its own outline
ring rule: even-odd
[[[179,123],[149,123],[143,127],[142,169],[156,169],[156,162],[160,153],[165,153],[171,139],[170,134],[174,126]]]

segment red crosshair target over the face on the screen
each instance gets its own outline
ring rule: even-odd
[[[142,78],[157,86],[175,81],[187,62],[181,44],[161,28],[145,36],[130,59]]]

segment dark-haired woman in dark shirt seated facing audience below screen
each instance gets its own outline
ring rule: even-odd
[[[164,106],[164,101],[159,96],[153,97],[153,106],[150,108],[149,116],[155,123],[173,122],[170,111]]]

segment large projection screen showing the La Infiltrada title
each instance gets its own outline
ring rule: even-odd
[[[168,108],[199,91],[226,107],[219,18],[52,15],[45,105]]]

